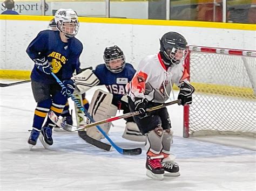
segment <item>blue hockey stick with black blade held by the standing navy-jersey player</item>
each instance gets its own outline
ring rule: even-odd
[[[58,84],[62,87],[65,88],[64,84],[62,83],[62,81],[60,81],[58,79],[58,77],[51,73],[51,75],[53,77],[55,77],[56,81],[58,82]],[[83,108],[83,106],[77,101],[77,99],[73,96],[70,95],[69,97],[71,97],[71,99],[77,104],[77,107],[84,112],[84,114],[90,119],[91,122],[95,122],[95,120],[91,117],[90,114],[88,114],[87,110]],[[102,133],[102,135],[110,142],[110,144],[117,150],[117,152],[119,152],[120,154],[124,154],[124,155],[139,155],[142,153],[142,148],[132,148],[132,149],[124,149],[124,148],[120,148],[119,146],[117,146],[111,139],[110,137],[105,133],[105,131],[103,131],[102,128],[100,128],[100,126],[96,125],[96,128]]]

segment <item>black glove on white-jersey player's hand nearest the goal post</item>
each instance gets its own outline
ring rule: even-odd
[[[193,92],[194,92],[194,87],[191,84],[183,82],[180,85],[178,100],[180,100],[181,105],[186,105],[186,104],[192,103]]]

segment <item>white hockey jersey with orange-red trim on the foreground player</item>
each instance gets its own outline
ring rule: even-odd
[[[134,101],[134,97],[146,98],[155,103],[164,103],[169,99],[172,86],[181,82],[188,82],[186,68],[180,63],[172,65],[166,70],[160,53],[148,55],[140,61],[137,72],[126,91]]]

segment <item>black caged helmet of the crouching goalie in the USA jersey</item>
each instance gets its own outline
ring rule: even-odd
[[[112,73],[122,72],[125,67],[125,56],[123,51],[116,45],[106,47],[103,55],[107,69]]]

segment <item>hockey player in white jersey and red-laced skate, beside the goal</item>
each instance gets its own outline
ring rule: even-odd
[[[152,112],[145,109],[169,99],[172,85],[180,88],[178,100],[182,105],[192,103],[193,86],[188,83],[188,73],[183,66],[187,41],[176,32],[168,32],[160,39],[160,52],[146,56],[138,65],[137,73],[126,85],[129,106],[139,111],[134,116],[140,132],[146,134],[146,175],[163,180],[164,175],[179,176],[179,166],[171,157],[173,132],[166,108]]]

